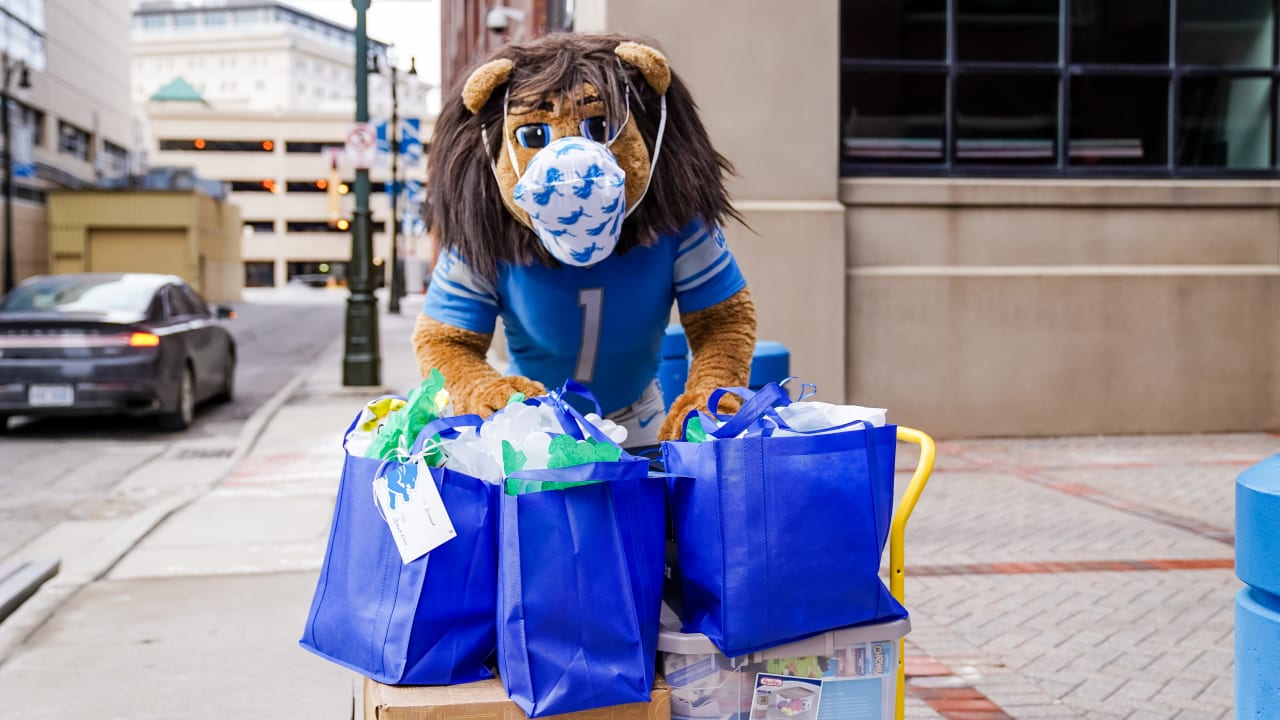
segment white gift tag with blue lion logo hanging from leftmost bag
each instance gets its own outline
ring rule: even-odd
[[[440,491],[420,462],[388,464],[374,478],[374,498],[406,565],[457,537]]]

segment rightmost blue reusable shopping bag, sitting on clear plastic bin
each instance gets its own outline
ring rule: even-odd
[[[776,383],[733,389],[748,401],[714,439],[662,447],[667,473],[678,475],[669,492],[684,632],[735,657],[905,618],[878,577],[897,428],[771,437],[760,421],[781,423],[772,409],[787,396]]]

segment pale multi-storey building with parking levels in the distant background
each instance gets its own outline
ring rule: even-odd
[[[426,83],[408,59],[371,40],[370,118],[419,118],[430,137]],[[147,158],[229,184],[244,223],[246,286],[346,278],[355,169],[338,152],[355,117],[351,28],[282,3],[148,3],[133,17],[133,97]],[[421,156],[398,159],[402,186],[425,181]],[[389,270],[389,158],[370,170],[375,263]],[[392,186],[394,187],[394,186]],[[403,215],[406,201],[398,202]],[[404,228],[401,228],[404,229]],[[401,233],[406,287],[421,283],[428,240]]]

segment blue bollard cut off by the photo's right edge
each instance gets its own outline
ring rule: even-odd
[[[1235,479],[1235,716],[1280,717],[1280,455]]]

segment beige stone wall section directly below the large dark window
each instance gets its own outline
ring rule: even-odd
[[[941,437],[1280,427],[1280,184],[841,184],[851,400]]]

